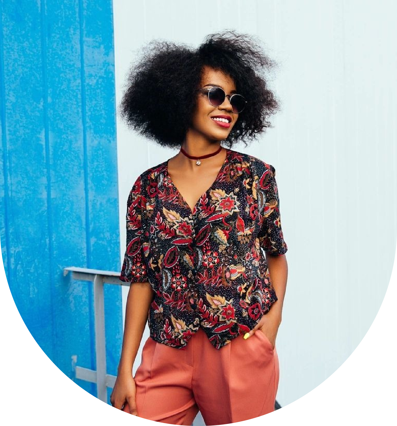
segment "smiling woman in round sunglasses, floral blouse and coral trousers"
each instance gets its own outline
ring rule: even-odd
[[[127,202],[131,285],[110,398],[124,412],[191,425],[200,410],[220,425],[274,410],[287,283],[275,169],[231,149],[278,107],[263,66],[250,37],[227,31],[197,50],[155,43],[130,74],[121,114],[179,151],[141,173]]]

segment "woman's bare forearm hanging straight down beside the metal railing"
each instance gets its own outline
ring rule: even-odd
[[[153,297],[149,282],[133,282],[129,287],[119,373],[132,371]]]

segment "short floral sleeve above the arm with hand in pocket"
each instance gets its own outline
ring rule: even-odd
[[[262,225],[259,230],[259,245],[266,253],[282,255],[288,247],[284,241],[280,218],[280,200],[276,183],[276,170],[262,163],[258,170],[257,190],[262,196]]]

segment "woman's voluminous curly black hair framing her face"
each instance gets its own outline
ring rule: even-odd
[[[266,118],[280,109],[267,87],[265,68],[277,66],[252,36],[234,30],[207,35],[197,49],[152,40],[129,71],[119,114],[128,127],[163,147],[179,148],[196,109],[203,66],[233,78],[248,103],[224,143],[252,140],[271,126]],[[127,87],[126,87],[127,86]]]

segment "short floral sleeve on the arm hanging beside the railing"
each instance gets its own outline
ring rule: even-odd
[[[146,197],[144,196],[141,176],[139,176],[132,186],[127,201],[127,242],[120,273],[121,281],[148,281],[142,246],[144,236],[144,227],[142,225],[145,208]]]

